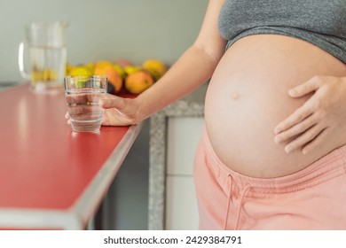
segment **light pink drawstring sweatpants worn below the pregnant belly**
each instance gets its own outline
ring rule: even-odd
[[[224,166],[204,130],[194,165],[200,229],[346,230],[345,161],[346,145],[295,174],[248,177]]]

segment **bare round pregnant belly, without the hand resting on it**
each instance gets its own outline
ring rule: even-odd
[[[274,127],[309,96],[287,91],[315,75],[346,75],[344,64],[310,43],[283,35],[251,35],[226,51],[209,82],[205,121],[210,143],[226,167],[269,178],[309,166],[341,146],[287,154],[274,143]]]

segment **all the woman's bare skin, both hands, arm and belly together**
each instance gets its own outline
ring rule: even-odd
[[[209,1],[196,41],[153,87],[135,99],[100,100],[103,125],[136,125],[212,77],[208,135],[218,157],[241,174],[292,174],[345,143],[343,63],[279,35],[248,36],[224,53],[217,28],[223,4]]]

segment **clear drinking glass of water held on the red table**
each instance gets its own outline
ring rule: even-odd
[[[104,110],[98,105],[98,101],[105,96],[106,92],[106,76],[65,77],[67,112],[75,132],[99,132]]]

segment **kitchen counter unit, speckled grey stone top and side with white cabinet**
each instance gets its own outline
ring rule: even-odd
[[[205,89],[150,120],[148,229],[198,229],[193,160],[204,125]]]

